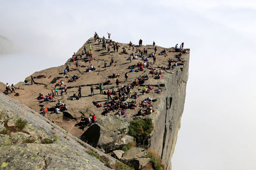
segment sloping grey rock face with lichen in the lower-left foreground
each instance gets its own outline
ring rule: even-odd
[[[1,169],[109,169],[86,153],[89,145],[0,92],[0,122],[12,119],[10,125],[17,125],[17,118],[27,122],[22,132],[1,123],[8,129],[0,132]]]

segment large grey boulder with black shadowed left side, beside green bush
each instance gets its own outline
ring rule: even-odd
[[[106,153],[112,152],[122,148],[127,141],[132,141],[129,136],[125,137],[129,131],[129,125],[129,121],[123,117],[108,115],[91,125],[82,134],[81,139],[93,147],[99,147]]]

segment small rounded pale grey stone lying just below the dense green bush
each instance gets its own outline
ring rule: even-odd
[[[131,148],[130,150],[127,150],[127,152],[123,154],[122,160],[127,161],[135,158],[142,158],[146,157],[147,154],[147,150],[143,148]]]

